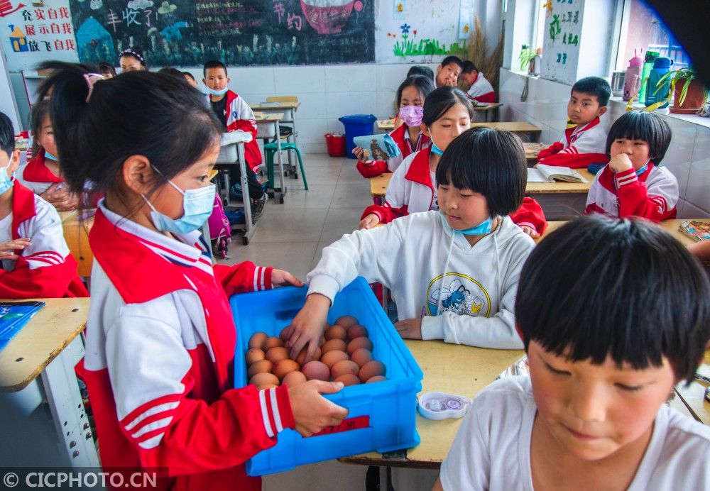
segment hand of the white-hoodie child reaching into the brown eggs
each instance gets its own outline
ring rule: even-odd
[[[306,297],[306,303],[286,328],[286,348],[291,350],[291,358],[296,359],[303,348],[307,347],[304,363],[313,359],[315,348],[325,331],[330,299],[320,293],[312,293]]]

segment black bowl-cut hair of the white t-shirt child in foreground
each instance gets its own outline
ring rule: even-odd
[[[585,216],[550,233],[520,273],[515,319],[571,361],[658,367],[692,380],[710,338],[710,285],[698,261],[643,219]]]

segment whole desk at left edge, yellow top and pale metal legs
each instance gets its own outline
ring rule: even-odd
[[[9,397],[29,413],[43,399],[40,377],[67,461],[72,467],[98,467],[74,371],[84,356],[79,333],[86,325],[89,299],[39,300],[45,307],[0,351],[0,390],[11,392]]]

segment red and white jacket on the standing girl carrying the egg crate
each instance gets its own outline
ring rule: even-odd
[[[86,355],[104,467],[167,467],[178,490],[261,490],[244,462],[295,421],[288,387],[234,387],[227,297],[271,267],[212,266],[198,231],[169,238],[99,204]]]

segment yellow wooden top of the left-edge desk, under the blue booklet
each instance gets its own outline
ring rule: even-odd
[[[89,299],[38,299],[45,307],[0,351],[0,390],[27,387],[84,330]]]

